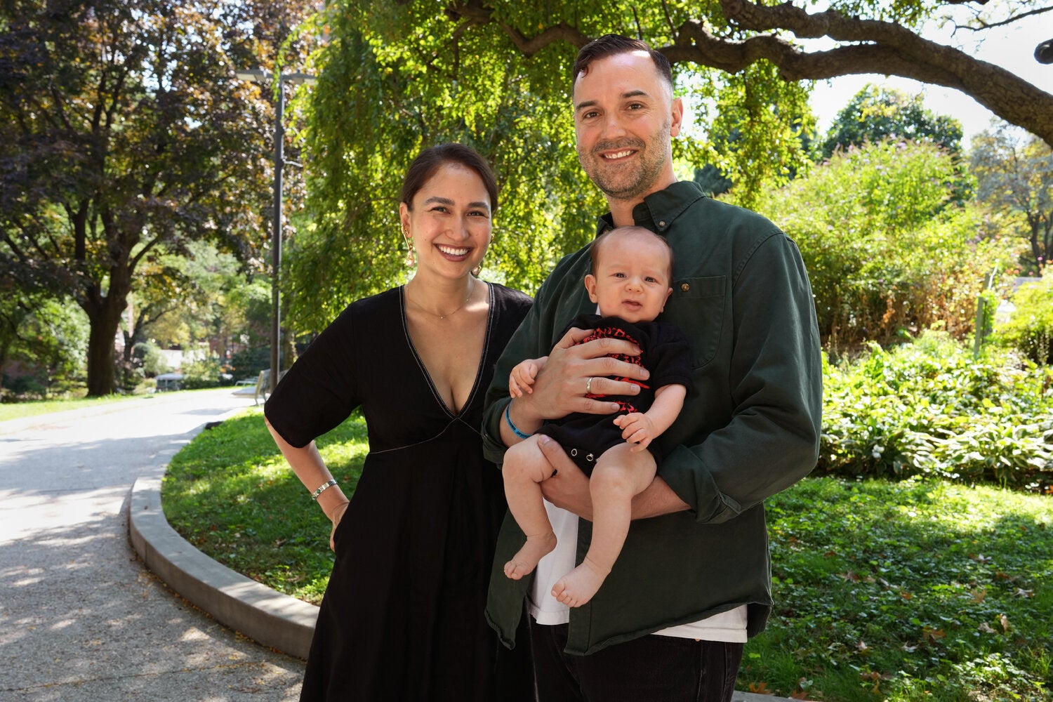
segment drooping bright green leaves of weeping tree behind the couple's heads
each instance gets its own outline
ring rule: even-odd
[[[496,2],[446,12],[438,3],[331,3],[318,18],[330,41],[315,57],[318,82],[304,106],[314,222],[297,232],[286,255],[283,292],[294,329],[318,332],[351,300],[406,279],[397,218],[401,178],[417,153],[444,141],[477,148],[501,185],[483,278],[534,292],[560,256],[592,237],[607,207],[575,152],[570,69],[577,46],[555,41],[524,55],[496,22],[529,34],[560,22],[590,36],[636,36],[645,27],[649,41],[664,45],[671,23],[690,16],[687,6],[657,2]],[[803,89],[777,80],[768,64],[732,77],[690,72],[686,65],[681,81],[690,80],[690,98],[700,104],[719,98],[750,129],[734,145],[740,157],[676,139],[681,177],[719,162],[743,199],[755,183],[784,178],[784,166],[801,160],[782,152],[800,148],[796,107],[804,103]],[[793,111],[773,107],[788,96]]]

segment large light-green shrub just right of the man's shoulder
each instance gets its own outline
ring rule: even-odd
[[[889,341],[903,328],[972,330],[985,276],[1015,252],[985,236],[976,208],[952,203],[954,178],[936,146],[882,141],[760,198],[758,209],[800,247],[830,346]]]

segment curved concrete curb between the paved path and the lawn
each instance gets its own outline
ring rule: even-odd
[[[140,478],[128,505],[132,545],[172,589],[257,643],[306,659],[318,607],[217,563],[179,536],[161,509],[161,479]]]

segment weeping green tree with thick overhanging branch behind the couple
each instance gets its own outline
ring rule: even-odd
[[[807,171],[811,80],[876,72],[950,85],[1053,140],[1053,96],[918,36],[951,5],[858,0],[817,14],[802,5],[327,3],[316,32],[330,40],[315,57],[303,135],[313,223],[286,256],[285,319],[317,332],[350,300],[405,280],[399,180],[421,147],[440,141],[477,147],[504,188],[484,276],[536,287],[558,256],[588,240],[603,208],[576,162],[569,89],[578,47],[608,32],[640,36],[674,64],[697,118],[674,140],[678,175],[711,164],[748,206],[761,188]],[[1017,0],[999,7],[973,25],[1046,12]],[[790,43],[821,37],[836,45]]]

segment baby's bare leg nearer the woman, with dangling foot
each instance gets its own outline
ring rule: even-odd
[[[537,562],[556,547],[556,535],[544,510],[540,484],[552,475],[552,464],[538,448],[537,441],[538,436],[534,435],[509,448],[501,466],[509,512],[526,535],[526,543],[504,564],[504,575],[513,580],[533,571]]]

